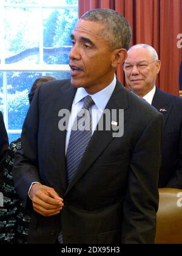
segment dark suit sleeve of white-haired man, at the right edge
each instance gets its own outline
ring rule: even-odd
[[[182,190],[182,123],[180,128],[180,138],[178,141],[178,152],[179,159],[176,164],[174,176],[169,180],[166,187],[167,188],[180,188]]]

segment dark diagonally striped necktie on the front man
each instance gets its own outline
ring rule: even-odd
[[[67,179],[69,183],[75,176],[81,158],[92,137],[92,116],[90,115],[89,108],[94,104],[93,99],[90,96],[86,96],[83,108],[81,108],[81,112],[78,113],[73,123],[66,155]]]

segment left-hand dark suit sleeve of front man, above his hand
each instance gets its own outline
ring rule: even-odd
[[[36,90],[33,101],[24,121],[21,134],[21,151],[16,153],[13,179],[16,191],[26,205],[28,192],[32,182],[40,182],[38,175],[38,96]]]

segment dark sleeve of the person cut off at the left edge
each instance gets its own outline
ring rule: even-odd
[[[2,117],[2,113],[0,112],[0,164],[2,164],[4,158],[5,158],[5,153],[7,152],[8,148],[8,137],[7,137],[7,132],[5,130],[5,125],[4,125],[4,120]]]

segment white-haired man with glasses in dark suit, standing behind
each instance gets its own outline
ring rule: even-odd
[[[155,86],[160,60],[152,46],[136,44],[124,63],[130,90],[163,113],[164,138],[159,187],[182,189],[182,99]],[[167,75],[167,74],[166,74]]]

